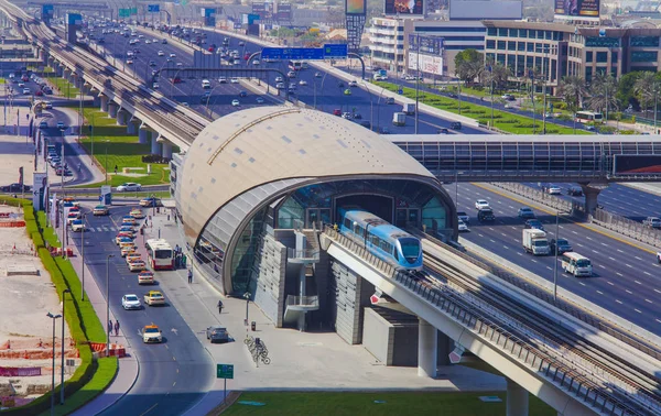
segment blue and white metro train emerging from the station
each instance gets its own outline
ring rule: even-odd
[[[420,240],[373,214],[354,209],[343,211],[339,231],[365,243],[370,253],[398,269],[422,270]]]

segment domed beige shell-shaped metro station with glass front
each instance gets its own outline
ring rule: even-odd
[[[441,183],[378,134],[321,111],[259,107],[209,124],[172,163],[193,265],[221,293],[249,297],[277,327],[357,319],[373,286],[326,255],[318,232],[343,208],[456,240]],[[346,328],[344,337],[359,342]],[[342,333],[340,333],[342,336]]]

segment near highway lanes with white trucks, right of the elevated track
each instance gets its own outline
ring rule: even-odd
[[[447,185],[455,196],[455,186]],[[553,281],[553,256],[527,254],[521,245],[523,220],[517,211],[525,204],[480,188],[459,183],[457,209],[470,215],[470,231],[466,240],[507,261]],[[496,222],[477,221],[475,200],[487,199],[496,214]],[[550,239],[555,238],[555,217],[537,211]],[[622,241],[592,231],[578,223],[561,221],[560,237],[568,239],[574,251],[592,260],[595,275],[576,278],[562,273],[559,264],[557,282],[561,287],[595,303],[625,319],[661,335],[661,264],[654,255]]]

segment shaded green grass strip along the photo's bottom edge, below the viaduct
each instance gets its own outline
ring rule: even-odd
[[[479,396],[498,396],[500,403],[484,403]],[[223,415],[383,416],[447,415],[487,416],[506,414],[506,393],[380,392],[380,393],[243,393]],[[264,406],[242,405],[259,402]],[[376,403],[378,402],[378,403]],[[384,403],[382,403],[384,402]],[[551,406],[530,396],[530,415],[555,416]]]

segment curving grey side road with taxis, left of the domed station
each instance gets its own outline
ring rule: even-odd
[[[85,207],[84,211],[89,211],[91,206]],[[129,271],[112,241],[121,217],[130,209],[130,206],[113,206],[108,217],[86,217],[88,231],[85,233],[85,261],[97,284],[105,291],[107,255],[115,254],[109,263],[110,308],[118,317],[140,362],[140,375],[136,385],[128,395],[101,414],[182,415],[208,391],[215,381],[215,365],[196,335],[170,304],[164,307],[143,307],[142,310],[123,310],[121,307],[124,294],[137,294],[142,298],[149,289],[163,291],[158,283],[155,286],[139,287],[137,273]],[[80,248],[82,234],[69,236]],[[142,238],[138,237],[138,240],[145,258]],[[163,293],[167,299],[169,293]],[[105,322],[104,316],[100,319]],[[139,331],[144,325],[152,322],[163,331],[163,343],[142,343]]]

